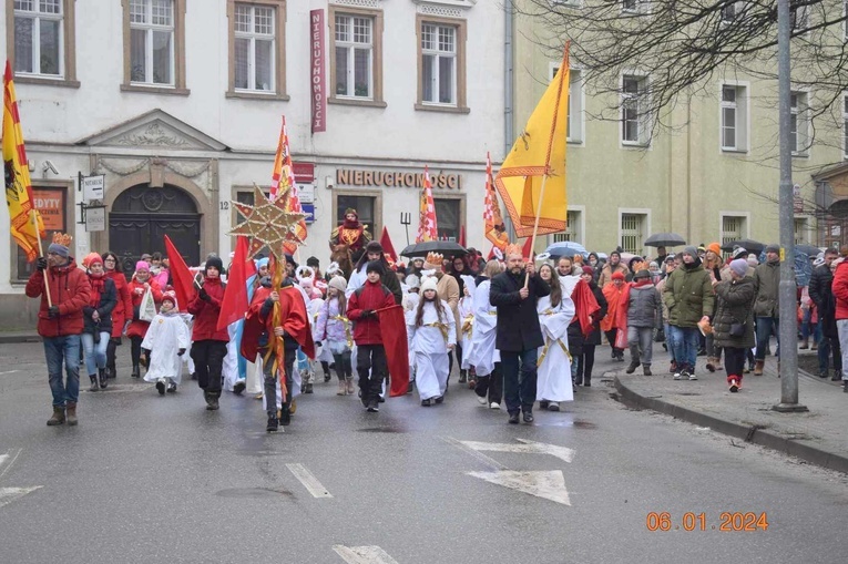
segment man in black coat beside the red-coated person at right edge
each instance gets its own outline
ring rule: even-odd
[[[839,347],[839,335],[836,330],[836,301],[831,284],[834,273],[830,271],[830,265],[839,253],[835,248],[825,250],[824,264],[813,269],[813,276],[809,279],[809,298],[816,304],[818,311],[818,327],[821,339],[818,342],[818,376],[828,377],[828,357],[834,353],[834,375],[831,380],[839,380],[842,372],[842,351]]]

